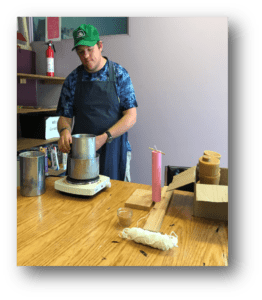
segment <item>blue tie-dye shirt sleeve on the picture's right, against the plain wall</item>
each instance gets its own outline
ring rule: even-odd
[[[121,110],[124,111],[132,107],[138,107],[135,90],[127,70],[117,65],[116,74]]]

